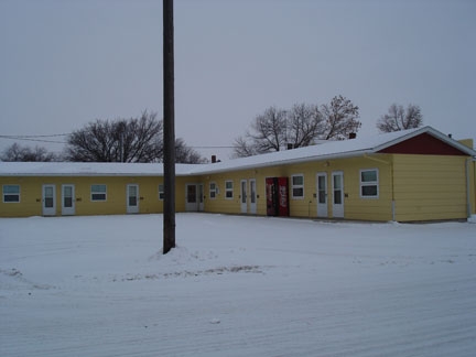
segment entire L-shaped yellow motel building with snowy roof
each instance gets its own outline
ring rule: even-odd
[[[177,212],[363,220],[475,215],[476,152],[424,127],[177,164]],[[162,164],[0,163],[0,217],[162,213]]]

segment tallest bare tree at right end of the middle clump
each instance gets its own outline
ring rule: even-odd
[[[325,131],[321,139],[344,140],[361,127],[361,122],[357,120],[359,108],[343,96],[336,96],[331,104],[322,105],[321,115],[325,121]]]

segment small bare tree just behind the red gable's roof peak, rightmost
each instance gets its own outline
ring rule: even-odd
[[[377,129],[380,132],[392,132],[420,128],[422,125],[423,116],[419,106],[409,105],[405,110],[403,106],[392,104],[388,113],[377,121]]]

